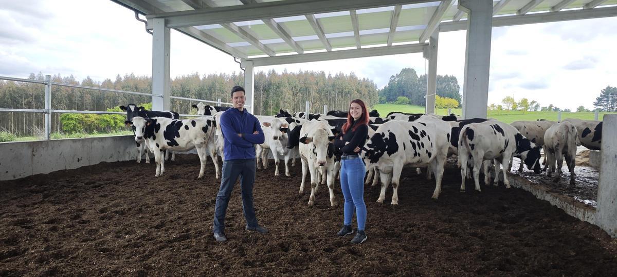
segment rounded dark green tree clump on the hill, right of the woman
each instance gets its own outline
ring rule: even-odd
[[[413,68],[403,68],[400,73],[390,77],[387,86],[380,89],[379,103],[407,102],[411,105],[426,105],[426,74],[418,76]],[[437,75],[436,93],[439,97],[452,98],[461,102],[460,86],[453,75]],[[399,97],[405,97],[400,98]],[[453,102],[452,102],[453,103]],[[451,105],[451,104],[450,104]],[[458,105],[457,105],[458,106]]]

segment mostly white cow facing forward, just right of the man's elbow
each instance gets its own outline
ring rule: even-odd
[[[289,124],[281,118],[271,118],[269,121],[270,122],[261,122],[265,142],[257,145],[257,167],[259,168],[259,159],[262,159],[263,167],[268,168],[267,149],[269,149],[276,164],[274,175],[279,175],[278,164],[280,163],[280,159],[283,158],[285,164],[285,175],[291,176],[291,174],[289,174],[288,164],[289,158],[291,158],[293,151],[286,147],[288,141],[287,133],[289,130]]]

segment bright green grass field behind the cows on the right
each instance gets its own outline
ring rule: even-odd
[[[379,111],[379,115],[386,116],[391,111],[401,111],[403,113],[424,113],[424,106],[416,106],[416,105],[396,105],[396,104],[378,104],[373,106],[374,109]],[[446,115],[448,113],[447,109],[436,109],[436,114]],[[462,110],[460,108],[452,109],[452,113],[462,115]],[[600,113],[599,120],[602,120],[604,114],[611,113]],[[488,117],[494,118],[499,121],[505,123],[511,123],[517,120],[536,120],[536,119],[547,119],[552,121],[557,121],[557,111],[488,111]],[[593,120],[594,113],[561,113],[561,119],[566,118],[579,118],[579,119],[587,119]]]

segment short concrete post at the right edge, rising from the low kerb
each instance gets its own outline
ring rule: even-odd
[[[595,225],[617,237],[617,114],[605,114],[602,121],[600,180]]]

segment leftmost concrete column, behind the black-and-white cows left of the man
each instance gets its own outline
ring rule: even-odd
[[[170,31],[164,18],[154,18],[152,34],[152,110],[170,110],[172,86],[169,71]]]

